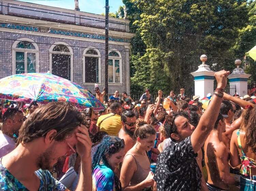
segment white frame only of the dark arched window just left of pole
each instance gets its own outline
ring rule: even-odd
[[[86,54],[86,52],[90,49],[95,50],[98,53],[98,55]],[[95,47],[93,47],[93,46],[89,46],[83,52],[83,72],[82,72],[82,74],[83,74],[83,83],[85,83],[85,84],[95,84],[95,83],[92,83],[92,82],[85,82],[85,57],[94,57],[94,58],[99,59],[98,60],[98,62],[99,62],[98,63],[99,64],[99,82],[96,83],[96,84],[101,84],[101,53],[100,53],[100,51],[98,49],[96,49]]]

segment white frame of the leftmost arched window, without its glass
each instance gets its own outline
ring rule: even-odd
[[[19,49],[16,48],[17,44],[21,41],[27,41],[31,42],[35,49]],[[12,74],[16,74],[16,52],[24,52],[24,66],[25,66],[25,72],[28,73],[28,59],[27,59],[27,53],[35,53],[35,72],[40,72],[40,65],[39,65],[39,48],[37,44],[29,39],[29,38],[19,38],[17,39],[13,45],[12,45]]]

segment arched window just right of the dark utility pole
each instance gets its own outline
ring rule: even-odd
[[[122,57],[117,51],[108,53],[108,82],[122,83]]]

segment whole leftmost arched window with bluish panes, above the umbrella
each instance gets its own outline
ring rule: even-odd
[[[12,46],[13,74],[39,72],[39,50],[31,39],[19,39]]]

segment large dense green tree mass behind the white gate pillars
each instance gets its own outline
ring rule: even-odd
[[[246,0],[123,0],[133,25],[131,86],[192,93],[191,72],[206,54],[215,71],[234,69],[236,41],[246,27]],[[204,36],[204,37],[202,37]],[[207,37],[207,38],[206,38]],[[141,52],[146,52],[143,54]],[[236,56],[237,55],[237,56]],[[135,85],[136,84],[136,85]]]

